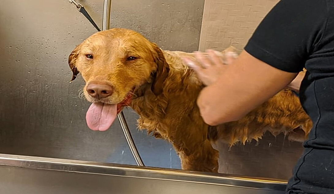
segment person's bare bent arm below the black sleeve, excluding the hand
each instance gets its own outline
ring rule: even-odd
[[[296,75],[243,51],[217,82],[201,91],[197,100],[201,116],[209,125],[238,120],[274,96]]]

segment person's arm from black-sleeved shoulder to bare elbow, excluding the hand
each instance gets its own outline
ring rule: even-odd
[[[280,0],[239,57],[200,93],[204,121],[238,120],[286,87],[317,50],[327,19],[326,0]]]

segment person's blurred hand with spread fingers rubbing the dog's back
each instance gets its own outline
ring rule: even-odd
[[[183,58],[184,63],[193,69],[198,78],[204,85],[209,86],[216,82],[218,77],[226,69],[226,65],[231,64],[236,58],[237,54],[234,52],[226,52],[223,55],[220,52],[213,50],[206,50],[208,55],[201,52],[194,52],[195,59]]]

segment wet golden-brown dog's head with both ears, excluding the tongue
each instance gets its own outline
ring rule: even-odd
[[[75,47],[69,56],[72,80],[80,72],[90,102],[118,104],[134,88],[152,82],[152,91],[162,93],[168,64],[159,47],[141,34],[114,28],[98,32]]]

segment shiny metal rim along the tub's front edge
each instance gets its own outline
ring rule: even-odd
[[[161,168],[0,154],[0,166],[284,191],[286,181]]]

